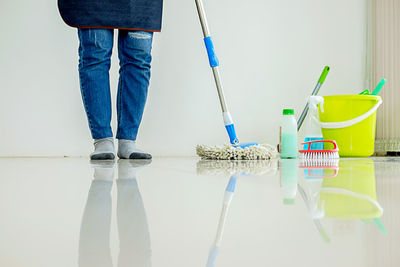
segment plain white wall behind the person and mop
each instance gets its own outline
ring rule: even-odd
[[[322,95],[364,89],[364,1],[205,1],[242,141],[277,143],[282,108],[299,115],[325,65]],[[0,25],[0,156],[87,156],[76,29],[64,25],[56,0],[2,0]],[[114,53],[114,100],[117,65]],[[165,1],[152,70],[141,147],[194,155],[197,143],[228,141],[194,0]]]

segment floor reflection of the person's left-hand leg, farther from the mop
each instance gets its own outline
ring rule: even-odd
[[[79,238],[79,266],[112,267],[110,252],[111,187],[114,166],[95,167]]]

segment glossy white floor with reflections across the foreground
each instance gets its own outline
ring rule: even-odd
[[[138,165],[0,159],[0,266],[400,266],[400,159]]]

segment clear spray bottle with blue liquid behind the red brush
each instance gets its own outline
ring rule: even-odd
[[[318,116],[318,104],[321,104],[321,110],[323,111],[323,103],[324,98],[322,96],[310,96],[308,99],[309,105],[309,114],[308,114],[308,127],[307,127],[307,134],[304,139],[304,142],[310,141],[320,141],[324,140],[322,137],[321,126],[319,125],[317,119]],[[304,149],[307,149],[308,146],[304,145]],[[324,149],[324,143],[316,143],[311,145],[311,149]]]

